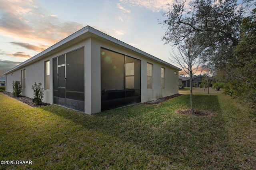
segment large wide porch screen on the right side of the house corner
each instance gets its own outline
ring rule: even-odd
[[[141,61],[101,49],[101,110],[140,102]]]

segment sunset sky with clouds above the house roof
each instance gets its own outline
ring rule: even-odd
[[[171,63],[159,24],[171,1],[0,0],[0,76],[87,25]]]

